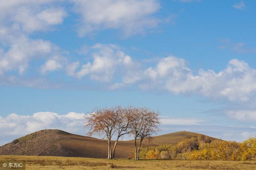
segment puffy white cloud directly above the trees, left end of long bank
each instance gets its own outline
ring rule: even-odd
[[[89,75],[92,80],[109,82],[112,80],[115,71],[126,70],[133,66],[132,58],[126,55],[122,49],[114,44],[95,44],[90,48],[92,62],[82,65],[82,68],[75,73],[79,63],[74,62],[67,68],[68,75],[82,78]]]

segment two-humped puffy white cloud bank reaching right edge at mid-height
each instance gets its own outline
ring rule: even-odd
[[[127,79],[126,76],[123,79]],[[245,102],[256,93],[256,70],[237,59],[230,60],[220,72],[200,69],[194,75],[184,59],[168,56],[160,59],[156,66],[144,70],[136,79],[138,81],[132,83],[136,82],[146,90],[157,88],[174,94],[196,93],[230,101]],[[128,85],[124,80],[121,84]]]

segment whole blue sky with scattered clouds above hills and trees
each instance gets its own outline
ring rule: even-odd
[[[85,135],[86,114],[117,105],[159,111],[158,134],[256,136],[255,8],[0,0],[0,145],[42,129]]]

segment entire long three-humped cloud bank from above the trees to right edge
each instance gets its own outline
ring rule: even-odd
[[[220,72],[200,69],[195,74],[186,60],[175,56],[160,58],[145,68],[143,61],[132,59],[120,46],[113,44],[95,44],[85,55],[92,61],[68,64],[67,74],[108,82],[110,89],[136,85],[143,90],[201,94],[232,102],[247,102],[256,95],[256,69],[238,59],[230,60]]]

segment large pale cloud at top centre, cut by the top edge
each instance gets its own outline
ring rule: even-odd
[[[124,36],[144,33],[158,26],[160,19],[152,16],[160,9],[158,0],[73,0],[74,10],[81,15],[78,35],[114,28]]]

